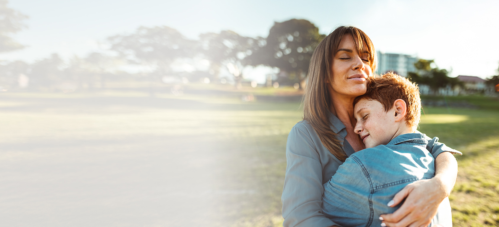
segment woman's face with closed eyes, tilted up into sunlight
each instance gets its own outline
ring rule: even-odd
[[[364,46],[364,50],[367,46]],[[369,53],[357,53],[352,36],[341,39],[333,58],[329,90],[333,97],[355,98],[366,93],[367,77],[371,76]]]

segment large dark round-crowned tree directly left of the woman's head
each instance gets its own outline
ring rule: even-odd
[[[252,65],[277,67],[289,75],[289,80],[303,81],[308,73],[312,53],[325,36],[310,21],[291,19],[275,22],[270,28],[266,45],[255,51],[248,59]]]

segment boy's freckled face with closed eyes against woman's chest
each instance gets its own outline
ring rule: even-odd
[[[383,104],[376,100],[361,99],[354,108],[357,119],[355,133],[366,145],[366,148],[387,144],[397,132],[394,119],[394,108],[385,112]]]

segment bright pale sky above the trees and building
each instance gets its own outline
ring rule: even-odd
[[[363,30],[376,50],[434,59],[439,68],[481,78],[498,75],[499,1],[486,0],[9,0],[28,15],[13,35],[26,47],[1,60],[34,62],[105,50],[106,38],[139,26],[169,26],[197,39],[233,30],[268,35],[274,21],[307,19],[328,34],[338,25]]]

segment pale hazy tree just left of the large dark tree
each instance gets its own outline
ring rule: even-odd
[[[262,45],[263,38],[250,38],[234,31],[205,33],[200,36],[200,50],[210,61],[210,73],[218,79],[221,67],[234,75],[236,88],[241,88],[242,70],[249,62],[245,59]]]

